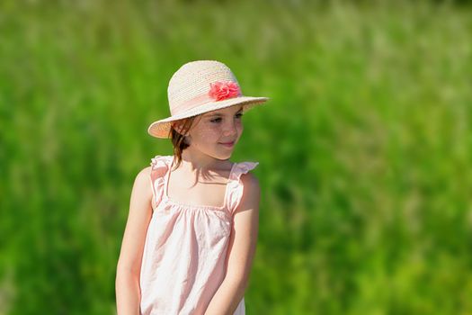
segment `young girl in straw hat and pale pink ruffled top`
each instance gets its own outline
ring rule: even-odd
[[[136,177],[116,275],[119,315],[245,314],[255,252],[257,162],[232,163],[243,112],[266,97],[244,96],[218,61],[180,67],[168,86],[171,117],[148,133],[170,138]]]

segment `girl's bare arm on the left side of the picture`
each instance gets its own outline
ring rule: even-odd
[[[129,202],[129,215],[116,268],[115,291],[118,315],[138,315],[141,293],[139,273],[147,227],[151,219],[150,166],[136,176]]]

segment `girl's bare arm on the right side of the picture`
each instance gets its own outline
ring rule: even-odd
[[[227,274],[209,302],[205,315],[231,315],[245,295],[257,243],[260,187],[251,173],[242,175],[244,193],[233,217],[227,247]]]

